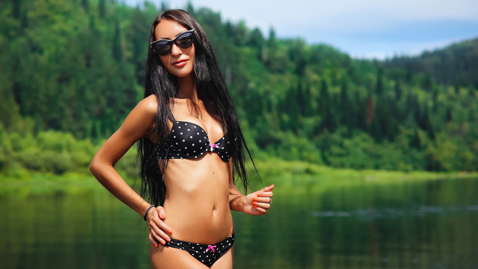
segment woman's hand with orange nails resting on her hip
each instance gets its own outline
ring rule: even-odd
[[[169,235],[173,234],[173,231],[164,224],[165,218],[166,212],[162,206],[153,207],[148,211],[148,215],[146,216],[150,241],[154,247],[158,247],[158,242],[164,245],[166,241],[171,241]]]

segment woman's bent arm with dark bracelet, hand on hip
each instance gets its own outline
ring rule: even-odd
[[[101,185],[141,216],[146,212],[150,204],[130,188],[116,172],[114,166],[134,143],[152,132],[156,124],[157,108],[158,104],[154,95],[150,95],[140,101],[126,117],[120,129],[111,135],[105,144],[101,146],[90,164],[91,173],[98,179]],[[165,244],[164,240],[169,241],[170,237],[164,231],[170,234],[173,233],[163,223],[162,220],[165,217],[166,213],[163,207],[159,205],[148,211],[147,219],[150,240],[156,247],[158,246],[156,241],[161,242],[163,245]],[[157,240],[153,240],[153,237]]]

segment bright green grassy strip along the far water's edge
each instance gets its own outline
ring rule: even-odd
[[[302,192],[307,188],[328,188],[332,185],[354,185],[354,184],[386,184],[403,180],[433,180],[433,179],[456,179],[475,178],[478,172],[427,172],[427,171],[386,171],[386,170],[354,170],[343,168],[332,168],[302,161],[284,161],[281,159],[268,159],[256,161],[256,167],[261,175],[264,186],[275,184],[275,191],[280,192]],[[127,169],[124,169],[127,168]],[[119,169],[120,175],[130,186],[135,178],[131,172],[134,164],[123,165]],[[261,183],[258,180],[254,168],[250,165],[252,188],[258,190]],[[89,172],[65,172],[57,175],[51,172],[25,171],[22,177],[18,174],[0,177],[0,190],[15,188],[15,186],[32,185],[48,189],[52,187],[81,185],[87,188],[103,188]],[[301,184],[295,185],[294,182]],[[238,183],[238,187],[239,187]],[[300,186],[300,187],[298,187]],[[135,189],[139,187],[136,182]],[[299,189],[297,189],[299,188]],[[240,189],[240,188],[239,188]],[[303,190],[302,190],[303,189]]]

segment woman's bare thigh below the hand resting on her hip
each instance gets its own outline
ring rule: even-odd
[[[208,269],[187,251],[174,247],[164,247],[163,245],[154,247],[151,244],[150,258],[152,269]]]

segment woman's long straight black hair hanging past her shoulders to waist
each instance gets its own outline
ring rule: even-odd
[[[233,179],[235,179],[234,183],[236,183],[237,178],[235,176],[238,176],[244,185],[244,191],[247,193],[250,184],[245,166],[246,152],[251,160],[252,157],[246,146],[239,126],[237,112],[229,96],[209,39],[201,25],[188,12],[184,10],[168,10],[154,19],[151,26],[150,43],[155,41],[154,32],[156,26],[162,20],[177,22],[188,30],[194,29],[194,75],[196,76],[197,95],[203,101],[212,101],[214,103],[218,116],[221,119],[224,134],[228,133],[229,137],[234,138],[231,139],[233,143],[231,156]],[[158,141],[164,143],[167,141],[170,132],[167,106],[169,106],[170,100],[173,100],[177,95],[178,84],[176,78],[163,67],[159,56],[151,46],[148,48],[145,70],[144,98],[152,94],[156,95],[156,100],[158,101],[158,110],[156,111],[157,124],[153,132],[156,134]],[[164,171],[167,162],[161,162],[163,168],[160,169],[154,148],[152,142],[146,137],[141,138],[138,142],[138,160],[141,166],[141,196],[150,203],[163,205],[166,186],[164,185],[161,171]]]

